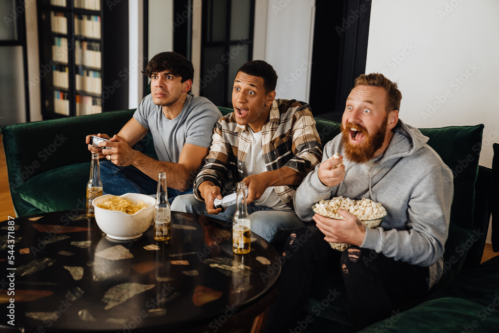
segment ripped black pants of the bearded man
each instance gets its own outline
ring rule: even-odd
[[[324,241],[317,227],[291,234],[282,255],[279,294],[270,308],[265,332],[289,332],[312,284],[321,281],[344,283],[350,318],[357,329],[389,317],[393,309],[421,299],[429,289],[428,267],[356,246],[338,252]]]

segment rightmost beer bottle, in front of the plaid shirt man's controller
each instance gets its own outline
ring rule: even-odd
[[[238,183],[236,213],[232,222],[232,250],[235,254],[250,252],[250,215],[246,206],[248,189],[243,182]]]

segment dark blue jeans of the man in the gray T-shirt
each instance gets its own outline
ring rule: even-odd
[[[107,160],[100,160],[99,165],[104,194],[142,193],[155,195],[158,190],[158,180],[152,179],[134,166],[121,167]],[[168,201],[171,204],[176,196],[189,193],[192,193],[192,187],[185,192],[168,187]]]

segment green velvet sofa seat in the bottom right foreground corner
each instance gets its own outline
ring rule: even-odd
[[[457,277],[431,300],[361,332],[385,332],[384,328],[404,333],[497,332],[498,294],[499,257],[495,257]]]

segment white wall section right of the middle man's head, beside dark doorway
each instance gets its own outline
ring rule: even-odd
[[[261,1],[260,1],[261,2]],[[276,97],[308,102],[315,0],[268,0],[264,58],[277,72]],[[255,48],[261,45],[255,34]],[[259,49],[253,54],[261,54]]]

